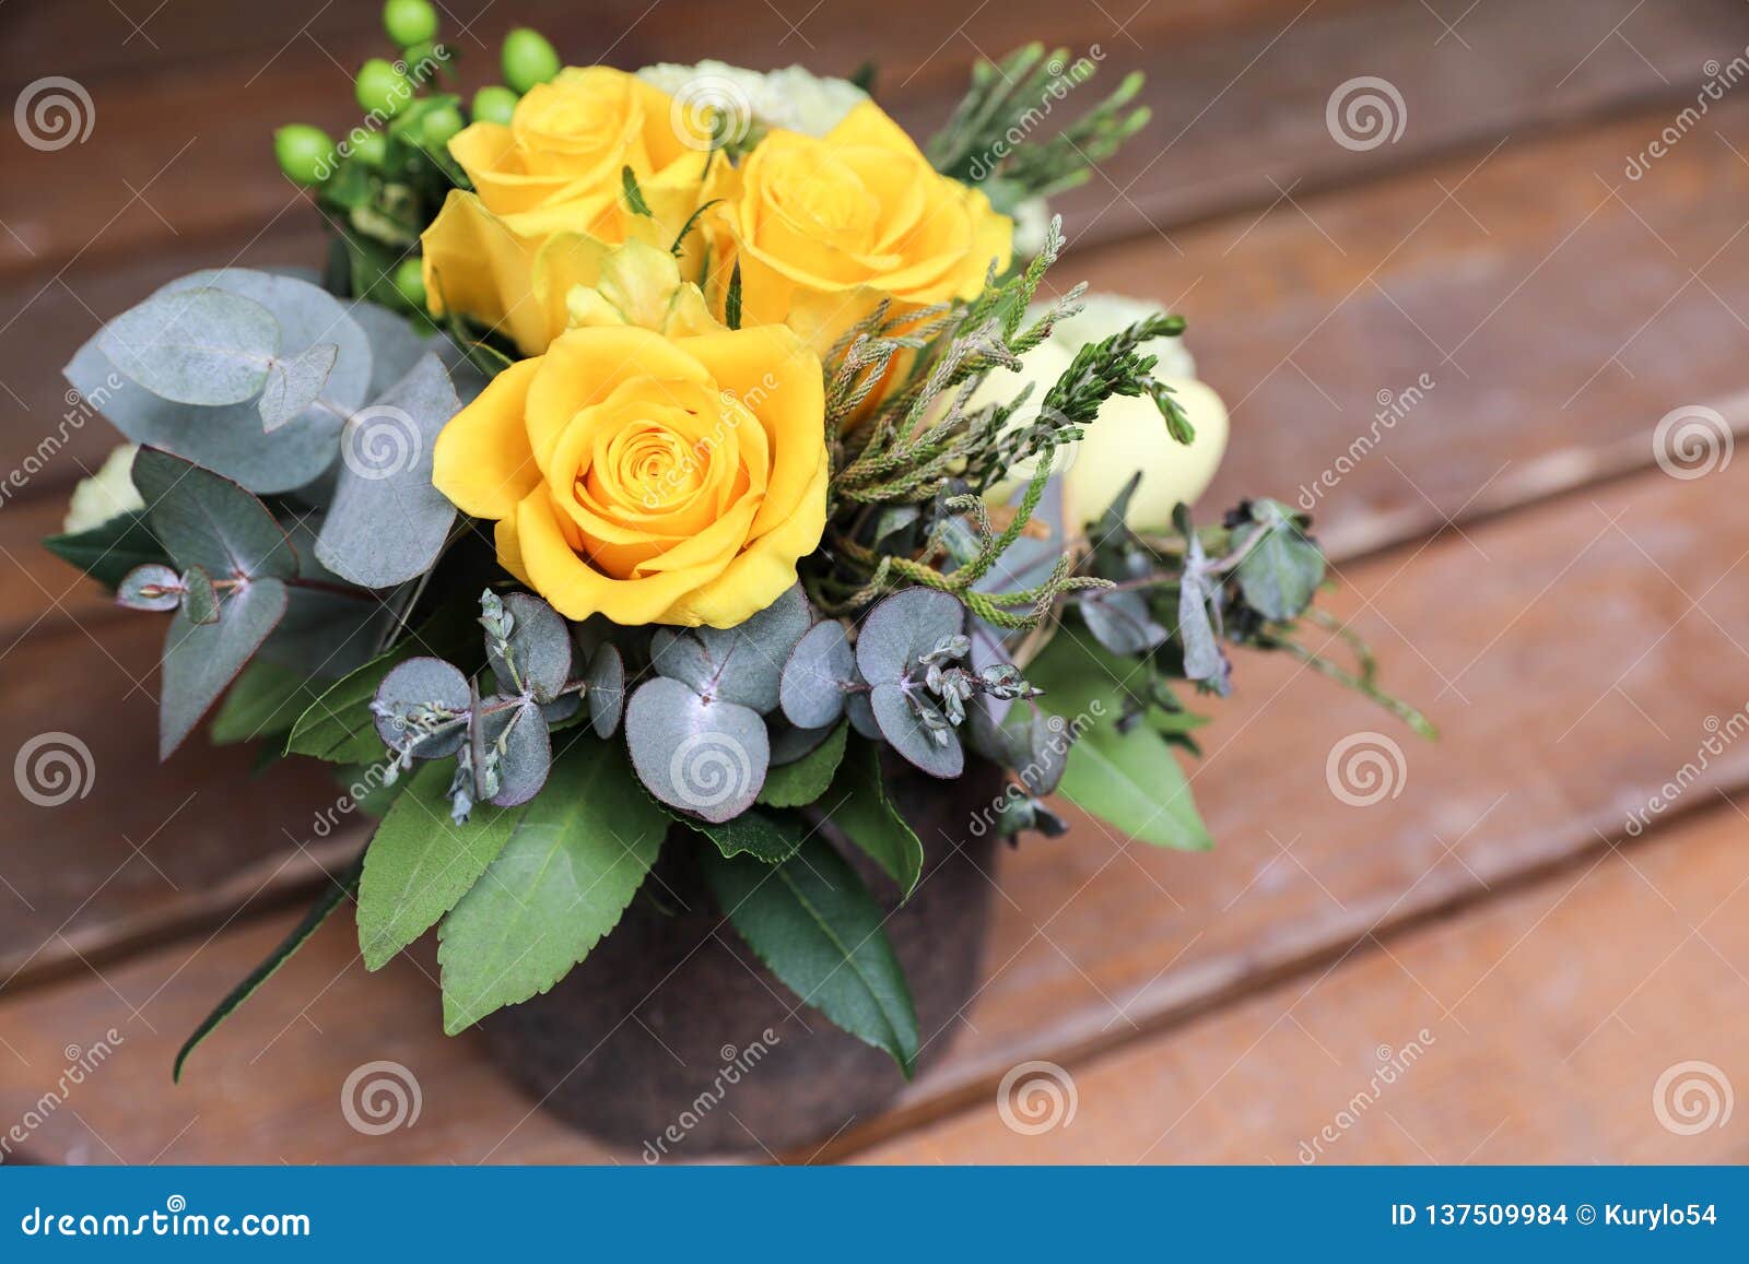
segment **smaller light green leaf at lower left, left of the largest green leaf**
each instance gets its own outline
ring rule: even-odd
[[[523,808],[476,806],[465,825],[449,816],[446,762],[422,764],[371,837],[359,885],[359,951],[380,970],[423,935],[486,872]]]

